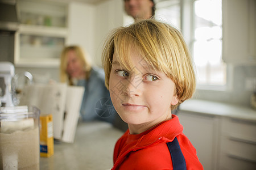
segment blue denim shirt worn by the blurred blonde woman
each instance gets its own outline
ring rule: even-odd
[[[105,87],[104,71],[93,67],[90,78],[79,80],[77,86],[85,87],[80,110],[82,120],[101,120],[113,123],[117,113],[110,100],[109,91]]]

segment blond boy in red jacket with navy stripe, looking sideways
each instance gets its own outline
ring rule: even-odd
[[[171,113],[195,91],[179,31],[154,19],[118,28],[102,61],[114,108],[129,126],[115,144],[112,169],[203,169]]]

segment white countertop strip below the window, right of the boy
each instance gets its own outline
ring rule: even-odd
[[[256,111],[249,107],[218,103],[207,100],[189,99],[180,105],[180,111],[210,114],[256,121]]]

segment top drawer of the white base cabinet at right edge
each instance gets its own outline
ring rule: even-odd
[[[241,138],[256,143],[256,122],[237,118],[223,117],[221,120],[221,135]]]

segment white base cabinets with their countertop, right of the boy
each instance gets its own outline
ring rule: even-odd
[[[204,169],[256,168],[256,111],[187,100],[177,114]]]

